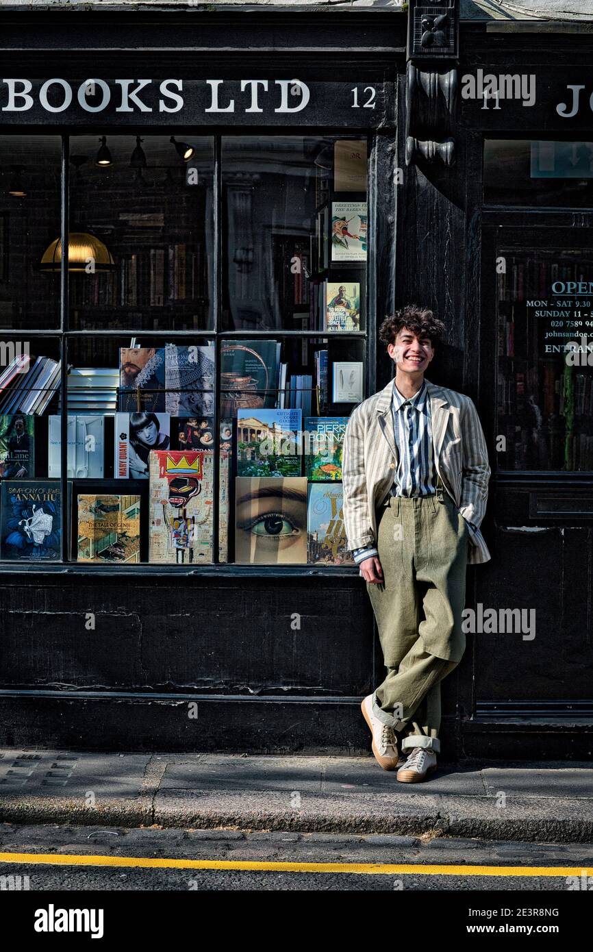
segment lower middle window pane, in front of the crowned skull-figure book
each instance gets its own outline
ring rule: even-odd
[[[69,340],[73,561],[213,561],[215,352],[204,337]]]

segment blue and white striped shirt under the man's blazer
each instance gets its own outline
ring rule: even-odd
[[[425,496],[436,493],[437,471],[432,446],[432,427],[428,388],[422,387],[413,397],[404,397],[393,382],[391,400],[393,435],[398,449],[399,466],[395,471],[392,496]],[[377,555],[374,545],[353,552],[357,563]]]

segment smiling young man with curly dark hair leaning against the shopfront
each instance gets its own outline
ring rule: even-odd
[[[399,767],[404,783],[436,770],[440,683],[465,651],[465,566],[490,559],[480,532],[490,466],[476,407],[425,379],[444,332],[415,305],[385,318],[379,337],[395,379],[355,407],[344,441],[347,542],[387,668],[362,709],[377,761]]]

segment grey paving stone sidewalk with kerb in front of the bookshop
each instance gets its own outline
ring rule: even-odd
[[[399,783],[366,757],[0,748],[0,822],[593,842],[587,763],[440,764]]]

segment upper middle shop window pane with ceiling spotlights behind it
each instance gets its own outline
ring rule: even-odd
[[[70,138],[70,327],[212,327],[213,140],[174,138]]]

